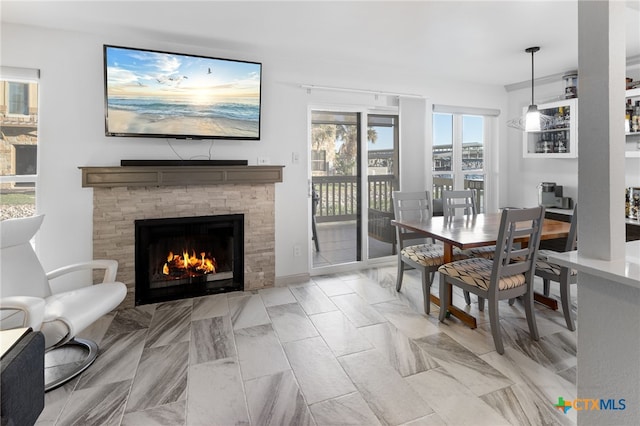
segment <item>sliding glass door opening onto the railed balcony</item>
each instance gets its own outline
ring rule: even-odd
[[[395,254],[398,116],[314,110],[310,159],[313,268]]]

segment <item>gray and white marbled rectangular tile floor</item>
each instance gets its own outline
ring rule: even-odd
[[[534,342],[522,305],[501,303],[501,356],[477,303],[471,330],[421,300],[415,271],[397,293],[385,267],[113,312],[83,333],[95,364],[46,394],[37,424],[575,424],[554,407],[576,398],[561,312],[536,307]]]

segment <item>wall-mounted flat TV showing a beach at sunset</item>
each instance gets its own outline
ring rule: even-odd
[[[260,139],[261,64],[104,46],[106,135]]]

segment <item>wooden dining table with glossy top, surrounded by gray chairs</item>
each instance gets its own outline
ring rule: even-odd
[[[477,215],[456,216],[445,220],[443,216],[435,216],[425,220],[393,220],[391,223],[413,232],[424,234],[425,237],[434,238],[443,243],[444,263],[453,261],[453,248],[458,247],[466,250],[474,247],[483,247],[496,244],[498,233],[500,231],[501,213],[484,213]],[[561,222],[553,219],[545,219],[542,224],[541,240],[550,240],[555,238],[566,238],[569,235],[569,226],[567,222]],[[526,239],[518,241],[527,244]],[[449,300],[451,297],[452,287],[449,285]],[[535,300],[552,309],[558,309],[558,303],[555,299],[551,299],[542,294],[534,294]],[[431,302],[440,306],[440,299],[434,294],[430,294]],[[447,307],[451,315],[455,316],[471,328],[476,328],[476,319],[469,313],[460,308],[449,305]]]

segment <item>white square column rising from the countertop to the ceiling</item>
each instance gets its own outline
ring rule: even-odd
[[[578,250],[624,257],[625,2],[578,2]]]

